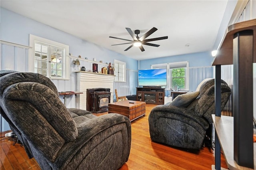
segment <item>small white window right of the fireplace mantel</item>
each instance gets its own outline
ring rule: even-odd
[[[115,81],[117,82],[126,82],[126,63],[118,60],[114,60],[114,69],[115,69]]]

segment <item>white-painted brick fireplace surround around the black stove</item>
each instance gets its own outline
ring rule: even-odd
[[[113,102],[114,75],[77,71],[77,91],[80,94],[79,109],[86,110],[86,90],[94,88],[110,88],[110,103]]]

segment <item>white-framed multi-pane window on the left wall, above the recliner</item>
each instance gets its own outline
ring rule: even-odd
[[[30,46],[31,72],[51,79],[69,79],[68,45],[30,35]]]

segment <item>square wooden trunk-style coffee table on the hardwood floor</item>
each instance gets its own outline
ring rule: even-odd
[[[119,113],[133,121],[146,114],[146,102],[144,101],[118,101],[108,103],[108,113]]]

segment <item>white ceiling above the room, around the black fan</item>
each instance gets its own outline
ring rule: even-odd
[[[1,0],[1,7],[95,43],[128,57],[142,60],[211,51],[226,9],[227,0]],[[229,21],[227,21],[229,22]],[[156,27],[148,38],[166,40],[132,47],[125,28],[141,30],[139,37]],[[186,44],[189,44],[187,47]]]

